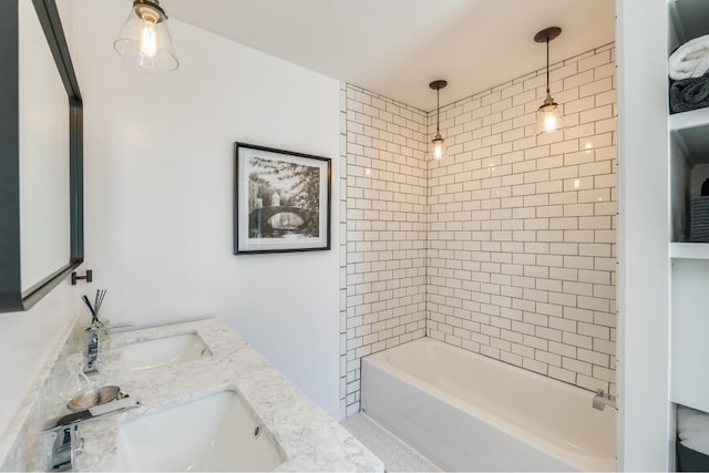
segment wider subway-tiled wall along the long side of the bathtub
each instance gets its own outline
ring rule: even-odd
[[[534,135],[545,71],[441,109],[427,333],[615,393],[614,45],[555,64],[551,90],[566,125],[553,135]]]

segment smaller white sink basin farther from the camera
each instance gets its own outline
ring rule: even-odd
[[[123,362],[130,371],[150,370],[212,356],[209,348],[195,332],[136,341],[123,347],[122,351]]]

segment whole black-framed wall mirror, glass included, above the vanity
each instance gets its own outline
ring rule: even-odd
[[[54,0],[0,2],[0,312],[83,261],[83,113]]]

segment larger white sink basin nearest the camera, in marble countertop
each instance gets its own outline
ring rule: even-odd
[[[270,471],[285,461],[235,391],[130,419],[119,432],[121,471]]]

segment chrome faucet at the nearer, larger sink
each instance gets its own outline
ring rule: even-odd
[[[76,455],[83,452],[84,449],[84,439],[79,436],[79,425],[125,409],[140,407],[140,399],[126,395],[116,401],[94,405],[85,411],[74,412],[49,421],[42,433],[54,435],[50,471],[64,472],[74,469]]]

